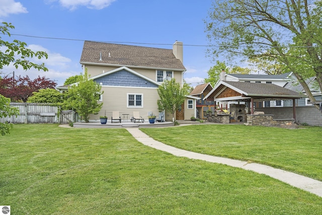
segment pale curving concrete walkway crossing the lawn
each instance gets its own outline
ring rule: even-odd
[[[228,158],[220,158],[210,155],[204,155],[200,153],[189,152],[186,150],[177,149],[156,141],[140,131],[138,128],[127,128],[127,130],[137,139],[142,142],[143,145],[152,147],[157,150],[168,152],[172,155],[179,157],[186,157],[191,159],[198,159],[212,163],[225,164],[232,167],[238,167],[245,170],[252,170],[254,172],[268,175],[277,180],[283,181],[291,186],[306,190],[322,197],[322,182],[314,180],[305,176],[301,176],[295,173],[287,172],[280,169],[275,169],[266,165],[247,163],[245,161],[238,161]]]

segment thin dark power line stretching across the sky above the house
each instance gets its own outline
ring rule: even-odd
[[[33,37],[33,38],[41,38],[41,39],[53,39],[53,40],[71,40],[71,41],[86,41],[84,39],[70,39],[70,38],[59,38],[59,37],[40,37],[40,36],[32,36],[32,35],[24,35],[24,34],[11,34],[22,37]],[[170,43],[142,43],[142,42],[120,42],[120,41],[95,41],[94,42],[103,42],[103,43],[120,43],[120,44],[140,44],[140,45],[173,45]],[[183,44],[183,46],[196,46],[196,47],[220,47],[220,45],[196,45],[196,44]],[[245,48],[247,46],[228,46],[228,47],[239,47]],[[321,48],[322,46],[253,46],[253,47],[261,47],[261,48]]]

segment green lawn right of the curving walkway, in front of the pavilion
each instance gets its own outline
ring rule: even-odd
[[[141,130],[180,149],[266,164],[322,181],[322,127],[190,125]]]

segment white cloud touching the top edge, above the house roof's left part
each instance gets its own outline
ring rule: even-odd
[[[101,10],[107,8],[116,0],[59,0],[62,7],[69,10],[75,10],[79,6],[85,6],[89,9]]]

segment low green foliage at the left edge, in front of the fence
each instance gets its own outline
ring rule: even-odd
[[[0,118],[2,117],[11,117],[19,115],[19,109],[10,106],[10,99],[0,95]],[[5,122],[0,123],[0,133],[1,135],[6,135],[10,133],[10,129],[13,128],[14,124]]]

